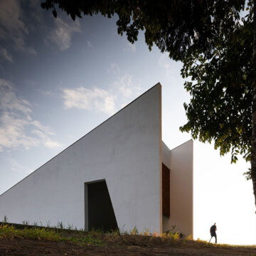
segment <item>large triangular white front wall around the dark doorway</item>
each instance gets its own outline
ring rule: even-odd
[[[84,183],[106,179],[119,228],[161,231],[161,85],[0,196],[0,220],[85,228]]]

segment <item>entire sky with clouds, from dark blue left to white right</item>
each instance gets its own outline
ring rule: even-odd
[[[181,63],[156,47],[149,52],[143,33],[128,43],[116,21],[73,22],[60,11],[53,18],[40,1],[0,2],[0,193],[157,82],[164,142],[172,149],[191,139],[178,130],[190,98]],[[252,185],[242,176],[247,167],[195,142],[195,238],[209,239],[217,222],[220,242],[256,244]]]

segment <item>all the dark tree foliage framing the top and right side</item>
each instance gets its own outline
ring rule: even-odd
[[[240,18],[241,11],[247,16]],[[82,15],[118,16],[117,31],[129,42],[143,32],[149,50],[181,60],[191,102],[182,132],[215,143],[232,162],[251,161],[256,205],[256,0],[44,0],[43,9]]]

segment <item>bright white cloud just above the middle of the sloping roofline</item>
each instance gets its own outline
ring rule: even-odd
[[[112,73],[115,78],[108,90],[83,86],[63,89],[62,97],[65,110],[96,110],[106,114],[114,114],[120,107],[127,105],[129,101],[142,92],[142,87],[133,82],[132,75],[122,74],[116,63],[112,63],[107,72]]]

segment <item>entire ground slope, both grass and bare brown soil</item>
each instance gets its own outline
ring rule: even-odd
[[[5,228],[3,228],[5,227]],[[254,246],[214,245],[149,235],[85,233],[41,228],[0,226],[0,255],[241,255],[256,256]]]

